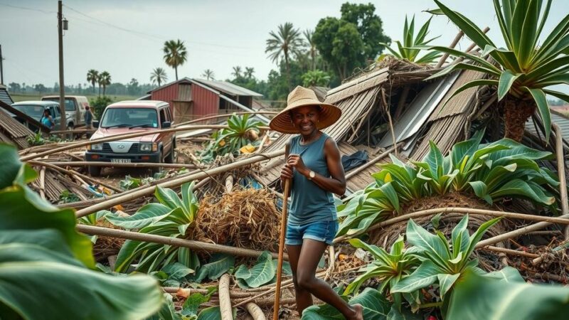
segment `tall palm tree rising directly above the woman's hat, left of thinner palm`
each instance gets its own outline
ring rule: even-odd
[[[282,58],[285,59],[285,66],[287,68],[287,82],[290,86],[290,64],[289,58],[290,54],[298,54],[304,41],[300,37],[299,29],[295,29],[292,23],[287,22],[284,25],[279,25],[279,31],[271,31],[269,33],[270,38],[267,39],[267,48],[265,48],[265,53],[270,53],[269,58],[272,62],[279,63]]]

